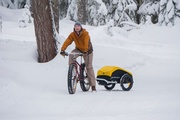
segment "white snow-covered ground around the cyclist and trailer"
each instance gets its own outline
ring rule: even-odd
[[[105,65],[133,73],[134,86],[74,95],[67,91],[68,58],[37,62],[33,24],[18,27],[21,11],[3,9],[0,33],[0,120],[178,120],[180,115],[180,26],[140,26],[130,32],[84,25],[94,45],[94,69]],[[2,12],[0,11],[0,15]],[[11,16],[11,17],[9,17]],[[61,43],[74,22],[60,21]],[[61,47],[61,45],[59,46]],[[68,48],[68,52],[73,49]]]

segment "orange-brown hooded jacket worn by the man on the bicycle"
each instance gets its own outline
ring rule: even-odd
[[[61,50],[65,51],[66,48],[74,41],[76,48],[81,52],[91,53],[93,51],[92,44],[90,41],[89,33],[86,29],[82,29],[80,35],[78,35],[75,31],[72,32],[68,38],[63,43]]]

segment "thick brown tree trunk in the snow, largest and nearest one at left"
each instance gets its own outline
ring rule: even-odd
[[[38,61],[48,62],[56,56],[53,20],[49,0],[31,0],[34,17]]]

